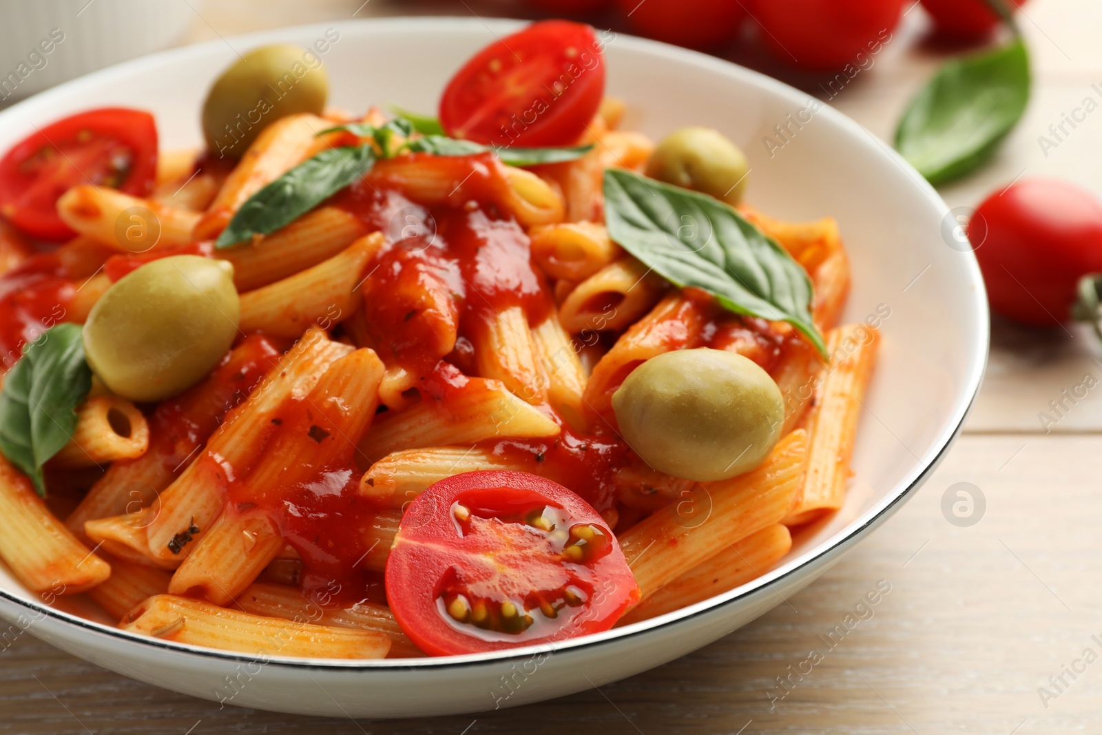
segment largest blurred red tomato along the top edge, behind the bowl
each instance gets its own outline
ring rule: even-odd
[[[792,66],[835,71],[879,53],[904,0],[768,0],[755,7],[761,37]]]

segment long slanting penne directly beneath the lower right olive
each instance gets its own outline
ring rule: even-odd
[[[753,472],[699,486],[619,537],[620,549],[646,601],[687,569],[788,516],[808,462],[802,429],[780,440]]]

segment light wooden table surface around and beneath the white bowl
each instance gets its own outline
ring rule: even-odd
[[[193,4],[193,39],[300,22],[401,12],[507,12],[508,3],[326,0]],[[464,7],[464,6],[467,7]],[[471,10],[474,9],[474,10]],[[1102,195],[1102,114],[1045,156],[1037,142],[1060,114],[1102,85],[1102,3],[1031,0],[1022,26],[1036,89],[1025,120],[992,165],[946,187],[951,206],[974,206],[1019,175],[1060,176]],[[942,52],[922,42],[908,12],[874,68],[833,104],[890,139],[905,100]],[[746,51],[732,58],[748,62]],[[755,62],[760,63],[760,62]],[[786,80],[813,79],[766,65]],[[1041,334],[994,325],[991,365],[964,435],[944,464],[880,531],[818,582],[737,633],[678,661],[574,696],[477,716],[404,722],[316,720],[227,707],[105,671],[23,636],[0,653],[0,733],[874,733],[1033,735],[1102,732],[1102,662],[1055,699],[1049,685],[1084,649],[1102,656],[1102,554],[1092,510],[1102,477],[1102,391],[1046,434],[1048,402],[1088,372],[1102,348],[1085,329]],[[941,514],[957,482],[980,487],[982,521],[958,528]],[[781,693],[787,675],[878,581],[890,592],[812,672]],[[1076,664],[1082,669],[1082,663]],[[806,667],[804,667],[806,668]],[[1052,690],[1056,691],[1056,690]],[[428,694],[431,696],[431,693]]]

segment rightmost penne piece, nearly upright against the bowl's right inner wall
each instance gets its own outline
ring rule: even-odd
[[[847,325],[827,335],[831,361],[817,376],[815,394],[807,418],[810,434],[808,474],[784,523],[799,526],[845,502],[850,458],[857,435],[857,418],[876,361],[876,329]]]

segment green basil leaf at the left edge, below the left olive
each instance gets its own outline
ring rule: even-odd
[[[23,349],[0,391],[0,452],[45,496],[42,465],[68,444],[91,389],[80,327],[58,324]]]

